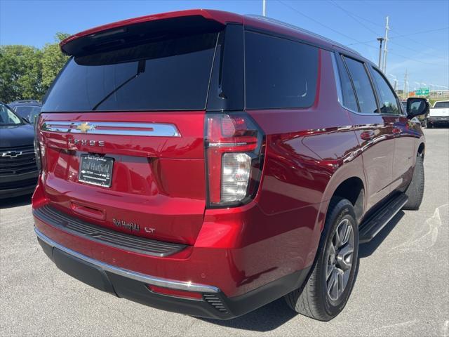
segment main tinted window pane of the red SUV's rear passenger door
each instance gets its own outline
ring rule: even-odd
[[[362,114],[378,112],[371,81],[362,62],[352,58],[344,58],[357,94],[358,106]]]

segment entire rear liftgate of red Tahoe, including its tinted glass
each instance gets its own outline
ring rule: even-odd
[[[55,208],[194,244],[206,204],[203,128],[217,37],[159,32],[83,47],[69,60],[40,120],[44,188]]]

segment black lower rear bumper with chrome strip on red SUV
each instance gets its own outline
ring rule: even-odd
[[[34,230],[43,251],[55,265],[81,282],[153,308],[197,317],[231,319],[243,315],[297,289],[309,272],[309,268],[299,270],[241,296],[227,297],[215,286],[153,277],[103,263],[58,244],[37,228]],[[148,285],[195,291],[202,298],[166,296],[150,291]]]

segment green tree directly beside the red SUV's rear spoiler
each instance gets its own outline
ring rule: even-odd
[[[51,86],[53,80],[69,59],[59,48],[60,41],[67,37],[69,37],[69,34],[58,32],[55,34],[56,43],[46,44],[42,48],[42,87],[44,91],[47,91]]]

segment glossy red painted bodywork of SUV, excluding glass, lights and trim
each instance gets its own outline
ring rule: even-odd
[[[208,10],[124,20],[76,34],[61,46],[105,29],[183,15],[203,15],[222,24],[239,22],[331,47],[328,41],[288,27]],[[72,216],[125,232],[112,225],[112,218],[132,219],[156,229],[155,234],[141,232],[142,236],[189,247],[157,258],[91,242],[35,218],[36,227],[55,242],[91,258],[155,277],[210,284],[227,296],[241,295],[308,267],[314,261],[329,200],[340,183],[354,177],[363,182],[366,213],[410,181],[417,146],[423,141],[417,128],[406,126],[405,117],[344,110],[337,102],[333,65],[326,50],[319,53],[317,86],[316,102],[307,109],[247,111],[265,135],[262,178],[253,201],[225,209],[206,209],[204,111],[42,114],[41,123],[175,124],[180,138],[95,135],[95,140],[105,142],[104,147],[69,145],[73,134],[41,131],[46,165],[33,207],[51,203]],[[90,137],[76,134],[80,140]],[[111,188],[78,183],[80,152],[115,159]]]

